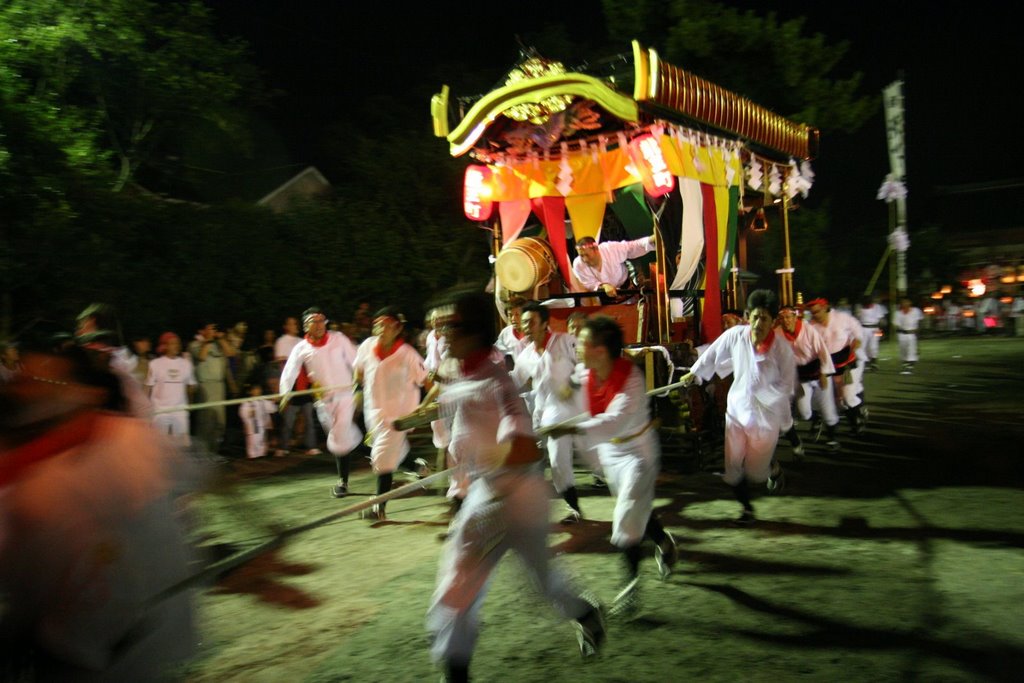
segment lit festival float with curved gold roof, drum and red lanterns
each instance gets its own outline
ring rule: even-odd
[[[525,53],[483,95],[443,86],[431,115],[452,156],[470,162],[463,206],[492,236],[502,315],[512,296],[557,300],[555,329],[577,310],[609,314],[644,358],[648,388],[664,386],[693,347],[721,334],[723,313],[742,308],[742,233],[764,227],[774,204],[786,245],[778,290],[794,301],[787,209],[813,182],[817,129],[637,41],[632,55],[579,71]],[[655,249],[633,262],[633,289],[614,299],[581,291],[577,241],[650,234]]]

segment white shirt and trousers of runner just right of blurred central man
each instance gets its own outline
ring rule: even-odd
[[[584,391],[594,371],[584,375]],[[650,401],[643,373],[636,366],[607,409],[581,422],[582,441],[596,447],[608,490],[615,497],[611,543],[618,548],[643,540],[654,506],[654,482],[660,467],[657,432],[650,427]],[[612,441],[614,439],[614,442]]]

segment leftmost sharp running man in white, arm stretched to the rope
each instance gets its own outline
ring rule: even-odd
[[[348,454],[362,439],[362,432],[352,422],[355,345],[341,332],[329,332],[327,315],[315,306],[302,313],[302,326],[306,336],[288,356],[281,373],[281,393],[292,390],[301,368],[305,368],[313,388],[323,389],[315,403],[316,416],[327,432],[327,447],[338,468],[338,483],[331,487],[331,495],[343,498],[348,495]],[[286,395],[279,410],[284,412],[288,402]]]

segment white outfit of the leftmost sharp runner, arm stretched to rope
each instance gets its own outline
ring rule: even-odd
[[[331,387],[316,401],[316,416],[328,432],[328,450],[335,455],[344,455],[362,439],[362,433],[352,422],[355,411],[352,402],[355,345],[340,332],[328,331],[327,336],[327,342],[321,346],[313,346],[306,339],[295,345],[281,372],[281,392],[292,390],[303,365],[310,382]]]

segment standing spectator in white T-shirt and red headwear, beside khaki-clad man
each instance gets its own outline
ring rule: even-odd
[[[160,335],[157,353],[160,356],[150,361],[150,370],[145,376],[145,387],[153,410],[187,405],[188,399],[196,393],[196,373],[188,356],[181,355],[181,338],[173,332]],[[153,424],[177,445],[187,446],[191,443],[187,410],[154,415]]]

